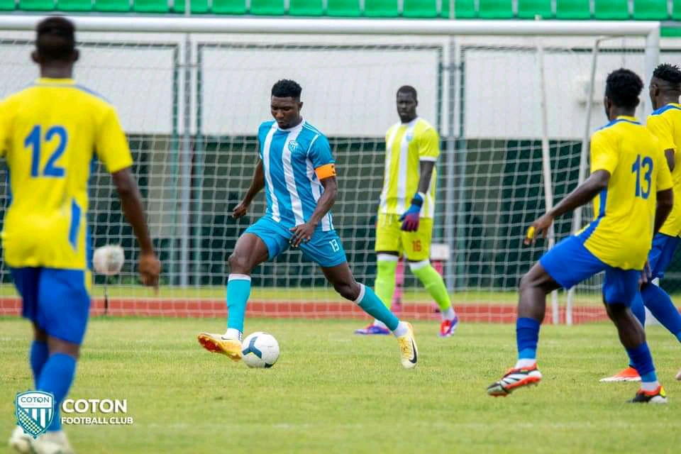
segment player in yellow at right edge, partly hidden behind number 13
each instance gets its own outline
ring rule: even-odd
[[[662,288],[650,282],[665,275],[674,251],[679,244],[681,234],[681,70],[678,67],[664,63],[655,68],[653,78],[650,79],[650,101],[653,104],[653,114],[648,116],[648,130],[660,140],[674,182],[674,208],[667,221],[653,238],[653,248],[648,254],[650,275],[648,282],[641,286],[641,292],[631,304],[631,311],[641,325],[646,323],[645,305],[650,313],[658,319],[672,335],[681,342],[681,314],[676,309],[669,294]],[[681,371],[676,376],[681,380]],[[602,379],[602,382],[638,382],[641,376],[633,367],[631,360],[629,367],[612,377]]]

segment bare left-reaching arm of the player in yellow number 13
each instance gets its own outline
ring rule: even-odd
[[[599,192],[608,187],[609,181],[610,172],[607,170],[597,170],[596,172],[593,172],[585,182],[580,184],[580,186],[570,192],[570,194],[567,194],[565,199],[561,200],[558,205],[554,206],[553,209],[547,211],[546,214],[532,223],[528,235],[525,238],[525,244],[534,243],[540,233],[542,238],[546,238],[546,233],[553,223],[553,219],[567,213],[567,211],[574,210],[578,206],[589,203],[589,201],[597,196]]]

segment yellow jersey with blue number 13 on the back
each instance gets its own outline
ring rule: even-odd
[[[618,116],[591,137],[591,172],[610,180],[594,199],[595,218],[578,236],[599,260],[642,270],[653,242],[657,192],[672,187],[660,141],[631,116]]]

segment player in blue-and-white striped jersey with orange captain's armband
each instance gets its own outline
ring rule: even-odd
[[[300,115],[301,91],[299,84],[287,79],[272,87],[270,109],[275,121],[265,121],[258,129],[260,159],[250,189],[233,216],[246,214],[263,188],[267,212],[246,229],[229,258],[226,333],[200,333],[199,343],[211,352],[241,359],[250,273],[291,247],[316,262],[343,298],[385,323],[397,337],[402,365],[411,369],[418,360],[411,324],[399,321],[372,289],[355,281],[348,266],[330,212],[338,193],[335,161],[323,133]]]

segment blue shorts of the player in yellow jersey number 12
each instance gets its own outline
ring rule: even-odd
[[[24,318],[62,341],[81,344],[90,312],[89,272],[55,268],[12,268]]]

